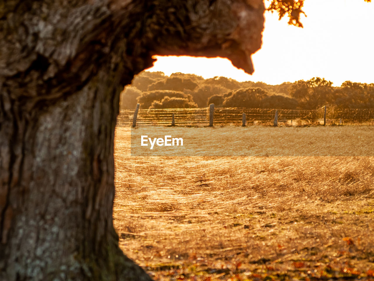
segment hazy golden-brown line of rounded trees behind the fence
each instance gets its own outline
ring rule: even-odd
[[[268,85],[226,77],[143,71],[121,93],[121,109],[216,107],[316,109],[374,108],[374,84],[344,82],[332,87],[325,78]]]

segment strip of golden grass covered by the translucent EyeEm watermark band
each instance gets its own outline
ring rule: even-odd
[[[354,129],[352,129],[354,128]],[[122,129],[120,129],[122,130]],[[141,146],[141,136],[183,138],[184,146]],[[136,156],[374,156],[373,126],[152,127],[131,130]],[[122,146],[124,147],[124,146]]]

